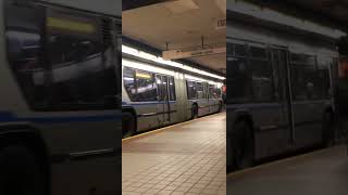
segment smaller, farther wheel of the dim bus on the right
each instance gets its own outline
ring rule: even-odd
[[[334,141],[334,116],[326,112],[323,117],[323,144],[330,146]]]

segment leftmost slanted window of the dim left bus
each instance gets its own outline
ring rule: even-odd
[[[7,3],[5,36],[8,60],[33,107],[47,104],[48,89],[46,65],[44,64],[44,10]]]

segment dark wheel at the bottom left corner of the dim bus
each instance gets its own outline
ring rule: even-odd
[[[47,178],[30,150],[11,145],[0,150],[0,194],[45,195]]]

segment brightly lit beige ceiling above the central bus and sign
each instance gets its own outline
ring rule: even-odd
[[[226,17],[226,0],[176,0],[122,12],[122,32],[159,50],[225,43],[225,28],[216,29]],[[188,58],[225,74],[226,54]]]

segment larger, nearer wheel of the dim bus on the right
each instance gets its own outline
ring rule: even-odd
[[[244,169],[253,165],[253,135],[252,129],[246,121],[235,125],[233,139],[233,160],[235,169]]]

